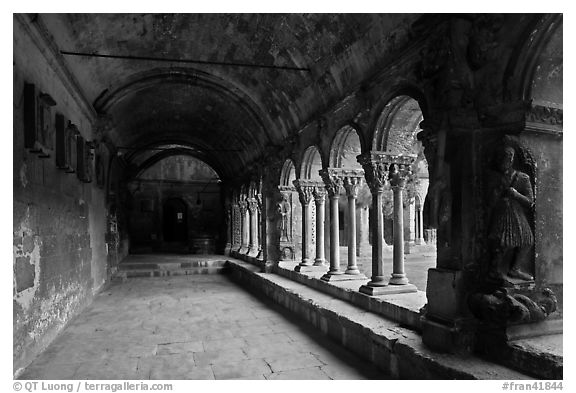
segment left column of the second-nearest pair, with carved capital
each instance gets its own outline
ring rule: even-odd
[[[322,276],[322,280],[331,281],[335,276],[343,274],[340,270],[340,225],[338,222],[338,198],[342,189],[342,179],[338,170],[333,168],[320,170],[320,176],[330,198],[330,269]]]

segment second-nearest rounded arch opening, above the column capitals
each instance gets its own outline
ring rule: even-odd
[[[329,166],[332,168],[362,168],[356,157],[362,153],[360,134],[350,125],[340,128],[330,146]]]

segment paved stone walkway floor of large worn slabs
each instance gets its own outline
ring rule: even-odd
[[[115,283],[20,379],[386,379],[225,275]]]

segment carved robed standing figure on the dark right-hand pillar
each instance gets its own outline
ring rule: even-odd
[[[515,154],[511,146],[499,151],[497,171],[489,189],[492,214],[488,239],[493,252],[489,277],[504,282],[502,269],[509,278],[533,280],[521,267],[528,261],[534,244],[529,222],[534,197],[530,177],[513,168]]]

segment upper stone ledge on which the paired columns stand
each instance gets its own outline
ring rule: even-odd
[[[421,330],[420,309],[426,304],[425,292],[413,291],[412,293],[369,296],[358,291],[362,284],[366,284],[369,281],[368,279],[364,281],[326,282],[320,279],[322,273],[299,273],[290,269],[290,264],[286,264],[286,267],[277,266],[273,272],[310,288],[330,294],[338,299],[350,302],[364,310],[399,322],[416,331]]]

